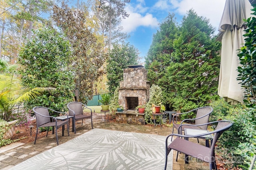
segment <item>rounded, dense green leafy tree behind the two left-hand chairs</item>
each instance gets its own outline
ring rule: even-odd
[[[35,38],[20,51],[22,82],[30,88],[52,87],[56,90],[26,102],[25,108],[45,106],[65,111],[67,103],[74,97],[74,76],[68,68],[70,44],[51,28],[40,29],[35,34]]]

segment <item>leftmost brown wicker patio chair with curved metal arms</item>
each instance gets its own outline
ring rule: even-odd
[[[64,128],[65,124],[67,124],[67,129],[68,129],[68,114],[66,114],[67,120],[57,121],[57,119],[54,116],[50,116],[49,110],[51,110],[55,113],[58,113],[58,114],[60,114],[60,113],[66,114],[65,112],[57,112],[55,110],[52,110],[52,109],[46,108],[46,107],[41,107],[41,106],[34,107],[33,111],[36,116],[36,137],[37,137],[37,133],[38,133],[38,128],[48,127],[47,134],[46,134],[46,137],[47,137],[50,126],[52,126],[52,134],[54,134],[54,126],[55,126],[56,141],[57,141],[57,145],[59,145],[57,130],[61,126],[62,126],[62,128]],[[64,136],[64,129],[62,129],[62,136]],[[68,129],[68,136],[69,136],[69,129]],[[36,144],[36,138],[35,138],[34,144]]]

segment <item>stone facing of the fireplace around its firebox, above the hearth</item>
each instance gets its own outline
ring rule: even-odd
[[[120,82],[118,103],[128,110],[129,106],[143,105],[149,100],[150,82],[147,80],[147,71],[142,66],[137,68],[124,68],[124,80]],[[133,99],[127,100],[128,97],[137,97],[138,103],[135,104]],[[132,102],[132,103],[128,103]],[[135,104],[135,105],[134,105]],[[136,107],[136,106],[135,106]],[[135,108],[134,107],[134,108]]]

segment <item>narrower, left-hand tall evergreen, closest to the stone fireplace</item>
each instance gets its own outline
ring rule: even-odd
[[[148,50],[145,67],[148,70],[148,80],[158,86],[166,86],[166,67],[172,62],[174,51],[173,41],[178,32],[176,18],[170,14],[159,25],[159,30],[153,35],[152,44]]]

